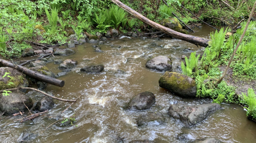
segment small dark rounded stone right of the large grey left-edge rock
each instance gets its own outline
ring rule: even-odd
[[[52,98],[46,96],[42,98],[39,102],[37,102],[37,104],[35,105],[35,110],[39,110],[42,112],[42,111],[50,110],[53,107],[54,107],[54,102]]]

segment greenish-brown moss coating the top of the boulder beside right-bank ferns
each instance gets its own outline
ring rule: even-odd
[[[182,89],[186,90],[191,88],[191,86],[196,86],[194,80],[187,82],[187,76],[182,74],[177,74],[175,72],[165,72],[159,79],[159,84],[166,89]]]

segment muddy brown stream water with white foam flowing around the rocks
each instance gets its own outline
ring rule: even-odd
[[[209,38],[213,29],[203,27],[193,35]],[[181,72],[180,57],[203,48],[178,39],[115,39],[99,45],[103,53],[94,52],[94,44],[75,47],[76,54],[56,56],[56,59],[74,59],[78,65],[68,74],[59,77],[65,80],[64,87],[49,85],[45,91],[59,98],[77,99],[65,113],[61,113],[70,103],[54,100],[55,107],[49,113],[25,123],[14,122],[20,117],[2,116],[0,138],[3,143],[19,142],[24,132],[34,133],[31,142],[61,143],[118,143],[133,140],[151,140],[156,143],[179,143],[177,135],[184,132],[188,137],[199,139],[215,137],[227,143],[253,143],[256,141],[256,123],[246,118],[245,111],[239,105],[221,104],[223,110],[216,111],[204,121],[185,128],[179,121],[167,115],[170,104],[202,104],[210,99],[182,99],[159,87],[158,80],[163,72],[147,69],[145,63],[150,57],[166,55],[173,60],[173,71]],[[191,48],[191,50],[188,50]],[[79,69],[88,64],[104,64],[100,74],[86,74]],[[60,72],[57,64],[47,63],[51,71]],[[122,71],[121,71],[122,70]],[[144,91],[153,92],[156,103],[143,111],[124,110],[130,99]],[[33,100],[43,95],[35,92],[27,94]],[[166,120],[163,123],[149,122],[136,125],[136,118],[149,112],[160,112]],[[62,117],[75,117],[71,126],[52,123]],[[51,125],[48,129],[46,129]]]

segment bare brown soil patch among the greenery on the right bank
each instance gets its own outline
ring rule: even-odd
[[[226,66],[220,66],[219,69],[224,72]],[[242,93],[247,93],[248,88],[252,88],[256,93],[256,80],[252,81],[243,81],[233,77],[233,71],[231,68],[228,69],[227,75],[224,78],[224,81],[228,85],[236,87],[236,94],[241,95]]]

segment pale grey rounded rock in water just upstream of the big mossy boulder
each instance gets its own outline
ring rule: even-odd
[[[157,56],[146,63],[146,67],[158,71],[169,71],[172,68],[171,58],[168,56]]]

